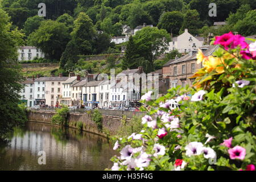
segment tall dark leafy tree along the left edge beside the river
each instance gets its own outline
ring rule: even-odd
[[[19,67],[10,66],[16,63],[17,48],[22,45],[24,35],[17,29],[10,31],[10,28],[10,17],[0,9],[0,138],[27,118],[18,106],[23,77]]]

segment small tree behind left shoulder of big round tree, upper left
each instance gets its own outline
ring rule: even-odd
[[[40,26],[40,23],[44,20],[43,17],[38,15],[28,18],[24,24],[24,33],[28,36]]]

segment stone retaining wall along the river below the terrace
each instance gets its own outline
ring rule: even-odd
[[[28,111],[27,117],[28,121],[51,123],[54,114],[56,114],[56,112]],[[89,114],[69,113],[68,115],[69,127],[77,128],[77,123],[82,122],[83,131],[88,131],[103,137],[108,137],[108,135],[115,135],[120,127],[122,127],[121,119],[122,117],[102,115],[102,130],[99,130],[96,123],[92,121]],[[130,119],[127,118],[127,120]]]

